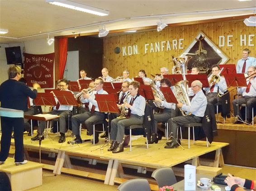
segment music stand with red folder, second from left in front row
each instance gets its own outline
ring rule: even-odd
[[[71,91],[53,91],[54,95],[56,96],[58,102],[60,105],[73,105],[73,106],[78,106],[78,103],[72,94]],[[69,116],[68,116],[68,130],[67,130],[67,136],[71,136],[71,132],[69,129]],[[67,140],[66,140],[67,141]],[[64,142],[62,142],[63,144]],[[60,146],[60,148],[62,145]]]

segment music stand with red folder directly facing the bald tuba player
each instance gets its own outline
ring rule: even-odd
[[[171,91],[171,88],[170,87],[160,87],[160,90],[162,92],[162,94],[164,95],[165,99],[166,99],[166,102],[168,103],[174,103],[174,104],[177,104],[178,101],[176,99],[176,97],[174,96],[173,92]],[[171,109],[171,116],[172,115],[172,109]],[[172,123],[172,120],[171,120],[171,123]],[[169,128],[169,127],[166,127],[166,128]],[[171,128],[172,128],[172,125],[171,125]],[[169,141],[171,138],[172,139],[175,139],[173,137],[173,130],[171,129],[171,133],[170,133],[170,136],[167,135],[166,137],[167,138],[167,141]],[[177,137],[178,139],[178,137]],[[176,139],[175,139],[176,140]],[[176,142],[180,145],[180,143],[176,140]],[[181,146],[181,145],[180,145]],[[183,146],[181,146],[181,148],[184,150]]]

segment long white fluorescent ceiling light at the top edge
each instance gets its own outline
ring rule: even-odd
[[[53,5],[58,5],[58,6],[62,6],[62,7],[66,7],[69,9],[74,9],[77,11],[82,11],[85,13],[90,13],[90,14],[96,14],[99,16],[106,16],[109,15],[109,11],[107,10],[103,10],[103,9],[99,9],[96,7],[91,7],[88,5],[83,5],[80,3],[75,3],[69,0],[45,0],[47,3],[53,4]]]

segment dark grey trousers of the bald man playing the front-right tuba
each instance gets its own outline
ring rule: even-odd
[[[173,132],[173,137],[177,138],[178,127],[189,123],[201,123],[202,118],[195,115],[177,116],[168,120],[169,132]]]

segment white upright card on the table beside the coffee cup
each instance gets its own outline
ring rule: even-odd
[[[184,190],[191,191],[195,190],[196,186],[196,169],[195,166],[186,164],[184,165]]]

